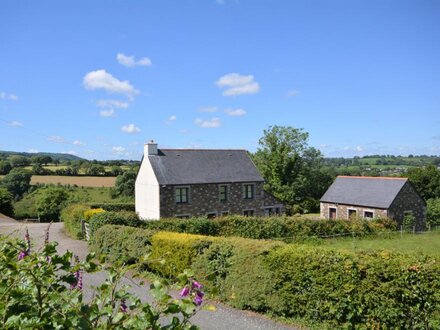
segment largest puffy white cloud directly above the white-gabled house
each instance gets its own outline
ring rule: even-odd
[[[215,84],[220,88],[224,88],[224,96],[256,94],[260,91],[260,85],[254,80],[253,75],[244,76],[238,73],[228,73],[220,77]]]

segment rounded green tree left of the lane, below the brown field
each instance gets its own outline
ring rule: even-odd
[[[41,220],[58,221],[69,194],[63,188],[49,187],[37,198],[37,214]]]

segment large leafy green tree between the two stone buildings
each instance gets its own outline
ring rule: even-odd
[[[321,152],[309,146],[308,138],[303,129],[270,126],[253,155],[266,181],[265,189],[292,212],[317,211],[319,198],[333,180],[324,169]]]

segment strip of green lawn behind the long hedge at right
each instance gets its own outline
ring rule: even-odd
[[[315,244],[315,243],[311,243]],[[316,244],[350,251],[389,250],[440,256],[440,230],[424,234],[388,233],[379,237],[322,239]]]

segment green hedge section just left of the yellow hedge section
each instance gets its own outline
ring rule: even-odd
[[[151,252],[153,234],[145,229],[105,225],[95,232],[90,249],[108,262],[141,263],[141,258]]]

